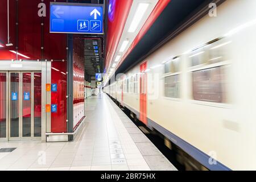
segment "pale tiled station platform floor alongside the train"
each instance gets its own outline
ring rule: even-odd
[[[85,103],[86,122],[73,142],[0,143],[0,170],[176,170],[105,93]]]

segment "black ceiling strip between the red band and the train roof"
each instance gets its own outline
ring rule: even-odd
[[[222,1],[223,0],[216,0],[216,2]],[[197,14],[203,8],[208,7],[210,2],[212,2],[212,0],[170,1],[133,51],[125,57],[125,60],[123,60],[122,64],[115,71],[115,75],[126,72],[142,61],[148,53],[154,52],[154,50],[158,48],[158,45],[166,40],[177,27],[180,27],[186,20],[189,20],[189,18]]]

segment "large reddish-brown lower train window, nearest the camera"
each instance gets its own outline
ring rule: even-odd
[[[224,75],[224,67],[192,72],[194,100],[225,102]]]

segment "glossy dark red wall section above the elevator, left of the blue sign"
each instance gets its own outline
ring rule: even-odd
[[[51,1],[53,2],[53,1]],[[66,2],[66,1],[58,1]],[[7,1],[1,0],[0,9],[0,60],[66,60],[67,35],[49,33],[49,3],[46,5],[46,17],[38,16],[38,5],[41,0],[9,0],[10,10],[10,42],[13,46],[6,47],[7,43]],[[17,18],[17,19],[16,19]],[[18,22],[18,25],[16,25]],[[42,24],[43,23],[43,24]],[[18,27],[18,29],[16,29]],[[18,39],[18,42],[16,41]],[[17,56],[10,50],[22,53],[27,57]],[[43,49],[42,49],[43,48]]]

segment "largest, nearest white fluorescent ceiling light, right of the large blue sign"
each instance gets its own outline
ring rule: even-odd
[[[133,21],[131,22],[128,32],[135,32],[137,30],[138,25],[143,18],[143,15],[147,11],[148,5],[149,5],[148,3],[139,3],[137,10],[133,16]]]

